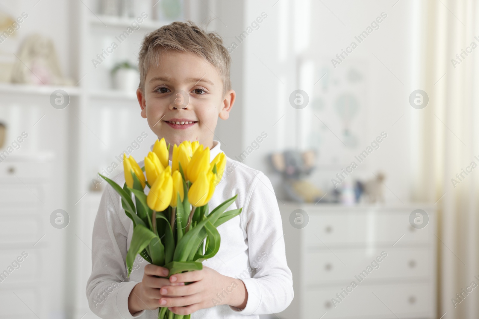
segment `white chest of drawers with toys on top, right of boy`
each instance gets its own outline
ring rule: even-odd
[[[432,206],[279,207],[295,291],[279,318],[436,318]],[[297,215],[296,209],[307,216]],[[411,226],[415,209],[427,213],[427,226]]]

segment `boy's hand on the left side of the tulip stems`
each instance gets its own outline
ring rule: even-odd
[[[184,283],[171,283],[166,277],[169,270],[154,264],[147,264],[143,279],[138,283],[128,296],[128,310],[133,315],[143,309],[154,310],[160,306],[159,299],[162,297],[160,288],[163,286],[182,286]]]

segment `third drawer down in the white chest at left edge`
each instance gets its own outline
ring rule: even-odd
[[[40,214],[2,214],[0,222],[0,243],[32,242],[45,234],[44,218]]]

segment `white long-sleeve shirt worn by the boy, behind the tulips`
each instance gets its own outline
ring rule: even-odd
[[[220,146],[218,141],[213,141],[211,160],[221,152]],[[138,164],[143,166],[143,161]],[[112,179],[123,187],[123,172]],[[148,191],[145,187],[146,194]],[[281,215],[271,182],[261,171],[227,156],[223,178],[209,201],[210,211],[236,194],[238,197],[227,210],[243,209],[239,216],[217,228],[221,235],[219,251],[203,264],[222,275],[241,279],[248,291],[246,307],[242,310],[228,305],[215,307],[212,300],[212,308],[196,311],[192,319],[259,318],[259,314],[283,311],[293,299],[293,279],[286,264]],[[134,315],[128,310],[128,296],[141,282],[148,264],[137,255],[131,275],[126,277],[125,257],[132,234],[133,222],[121,206],[120,195],[106,184],[93,227],[92,269],[86,287],[89,306],[101,318],[158,318],[158,309],[142,310]],[[216,302],[231,289],[225,287],[218,291]]]

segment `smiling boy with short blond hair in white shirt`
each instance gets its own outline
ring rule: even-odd
[[[213,140],[217,118],[227,120],[235,100],[230,57],[219,35],[205,33],[193,22],[172,22],[145,37],[138,60],[137,98],[151,130],[171,145],[198,140],[210,148],[213,159],[221,152],[220,143]],[[124,174],[113,180],[123,185]],[[133,223],[119,195],[107,185],[93,227],[86,289],[91,310],[105,319],[156,319],[158,307],[181,315],[194,313],[197,319],[259,318],[283,311],[293,299],[293,281],[271,182],[261,171],[227,157],[209,207],[235,194],[228,210],[242,207],[242,212],[218,227],[220,249],[203,262],[202,270],[159,278],[168,270],[138,255],[126,278]]]

